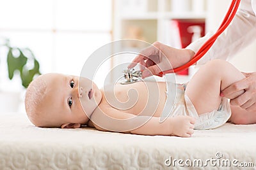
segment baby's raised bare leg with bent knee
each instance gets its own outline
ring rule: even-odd
[[[225,60],[211,60],[200,67],[189,81],[185,94],[194,104],[198,115],[218,110],[221,90],[245,76]]]

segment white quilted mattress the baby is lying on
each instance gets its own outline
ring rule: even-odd
[[[188,159],[192,163],[202,159],[205,163],[211,158],[237,159],[238,164],[254,164],[246,169],[256,167],[256,125],[225,124],[214,130],[195,131],[192,138],[179,138],[88,128],[38,128],[24,113],[0,113],[0,120],[0,169],[180,169],[177,162],[174,167],[165,166],[170,157],[184,160],[180,165],[185,167]],[[223,157],[217,159],[217,152]],[[221,169],[222,166],[211,166],[208,162],[207,167],[195,167]],[[231,165],[228,169],[237,167]]]

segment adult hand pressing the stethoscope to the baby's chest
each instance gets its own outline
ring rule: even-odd
[[[177,49],[163,43],[155,42],[147,48],[143,49],[137,55],[132,63],[128,66],[129,69],[141,64],[143,70],[142,78],[157,75],[162,71],[176,68],[186,64],[195,55],[195,52],[189,49]],[[145,67],[147,69],[145,69]]]

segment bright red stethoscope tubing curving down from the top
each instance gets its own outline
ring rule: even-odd
[[[183,66],[177,67],[175,69],[163,71],[163,72],[159,73],[159,76],[163,76],[164,74],[168,74],[168,73],[178,73],[179,71],[183,71],[184,69],[187,69],[189,66],[195,64],[199,59],[201,59],[205,55],[205,53],[207,53],[207,51],[211,48],[211,46],[216,41],[218,36],[220,36],[220,34],[223,31],[225,31],[225,29],[228,27],[230,22],[233,20],[233,18],[236,15],[236,11],[238,9],[240,1],[241,0],[233,0],[232,1],[232,3],[230,4],[230,7],[228,9],[228,12],[225,15],[225,18],[223,19],[223,22],[221,23],[218,31],[216,31],[216,33],[213,36],[211,36],[211,38],[209,38],[204,43],[204,45],[201,46],[201,48],[198,50],[198,52],[194,55],[193,59],[189,60],[189,62],[187,62]]]

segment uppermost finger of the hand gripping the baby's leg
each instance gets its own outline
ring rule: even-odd
[[[243,80],[232,83],[232,85],[222,90],[221,93],[223,94],[224,97],[226,97],[234,92],[238,92],[240,90],[247,89],[247,88],[248,88],[248,81],[246,80],[246,78],[244,78]]]

